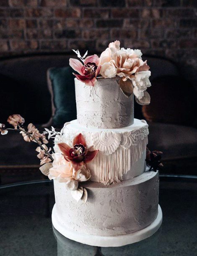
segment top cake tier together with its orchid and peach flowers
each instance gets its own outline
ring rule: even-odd
[[[119,128],[133,123],[133,98],[150,103],[150,67],[140,50],[120,48],[115,41],[98,55],[70,58],[74,74],[78,122],[86,127]],[[100,77],[99,77],[100,76]],[[101,77],[102,76],[102,77]]]

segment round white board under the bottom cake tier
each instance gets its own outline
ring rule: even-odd
[[[99,236],[99,235],[81,234],[65,228],[57,221],[57,219],[58,218],[57,218],[56,208],[54,204],[54,207],[52,210],[53,226],[57,231],[59,231],[66,238],[69,238],[79,243],[84,243],[92,246],[117,247],[117,246],[123,246],[131,243],[136,243],[153,235],[161,226],[162,211],[161,211],[161,207],[158,205],[157,218],[154,220],[154,222],[150,224],[150,226],[144,228],[143,230],[139,230],[137,232],[130,233],[127,235],[117,235],[117,236]]]

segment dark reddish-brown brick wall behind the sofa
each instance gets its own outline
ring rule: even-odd
[[[196,0],[0,0],[0,54],[101,52],[118,39],[195,77],[195,7]]]

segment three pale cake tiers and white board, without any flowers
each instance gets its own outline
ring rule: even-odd
[[[64,142],[83,134],[86,147],[99,150],[87,163],[86,204],[54,180],[54,227],[67,238],[96,246],[121,246],[152,235],[161,225],[158,172],[146,172],[148,124],[134,119],[134,97],[119,77],[100,78],[89,87],[75,78],[78,119],[65,124]]]

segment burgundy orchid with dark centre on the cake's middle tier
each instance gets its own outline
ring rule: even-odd
[[[73,148],[66,143],[58,143],[57,145],[62,151],[65,160],[71,162],[75,171],[78,171],[83,166],[83,163],[90,162],[99,151],[89,151],[86,148],[86,140],[81,133],[74,138]]]

